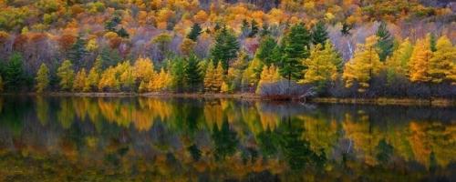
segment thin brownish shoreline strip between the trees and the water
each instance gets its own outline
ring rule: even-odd
[[[144,96],[144,97],[181,97],[181,98],[234,98],[244,100],[264,100],[272,101],[273,99],[261,97],[252,93],[236,94],[204,94],[204,93],[134,93],[134,92],[90,92],[90,93],[72,93],[72,92],[50,92],[45,94],[36,93],[2,93],[0,96],[90,96],[90,97],[114,97],[114,96]],[[293,102],[293,101],[290,101]],[[378,98],[337,98],[337,97],[313,97],[307,98],[308,103],[325,103],[325,104],[351,104],[351,105],[378,105],[378,106],[456,106],[456,99],[452,98],[395,98],[395,97],[378,97]]]

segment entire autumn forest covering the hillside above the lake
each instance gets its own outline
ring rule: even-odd
[[[0,0],[2,92],[454,97],[444,0]]]

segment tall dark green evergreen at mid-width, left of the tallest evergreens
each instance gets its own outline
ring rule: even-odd
[[[211,49],[213,61],[221,61],[224,70],[228,70],[229,62],[237,57],[239,43],[236,36],[226,29],[225,26],[215,36],[215,45]]]

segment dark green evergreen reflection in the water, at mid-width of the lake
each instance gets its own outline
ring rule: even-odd
[[[222,127],[219,129],[217,125],[213,125],[212,139],[215,146],[215,158],[224,159],[224,157],[232,156],[236,152],[238,138],[236,132],[230,129],[228,120],[223,118]]]

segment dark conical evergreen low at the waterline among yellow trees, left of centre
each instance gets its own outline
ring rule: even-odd
[[[192,55],[187,58],[184,77],[187,90],[195,91],[202,83],[200,64],[196,56]]]

